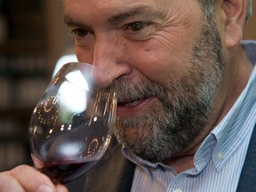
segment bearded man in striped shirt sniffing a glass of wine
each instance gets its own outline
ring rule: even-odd
[[[122,144],[113,139],[71,191],[255,190],[244,172],[247,161],[253,169],[256,45],[240,43],[252,1],[63,3],[77,59],[116,81]],[[66,191],[53,188],[28,166],[0,174],[0,191]]]

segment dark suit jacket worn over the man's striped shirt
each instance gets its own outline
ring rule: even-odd
[[[236,192],[256,192],[256,124]],[[91,171],[68,184],[70,192],[129,192],[135,164],[127,160],[114,138]]]

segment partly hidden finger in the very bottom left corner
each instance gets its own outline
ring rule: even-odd
[[[20,183],[15,180],[9,172],[0,173],[0,191],[1,192],[25,192],[23,188],[20,187]]]

